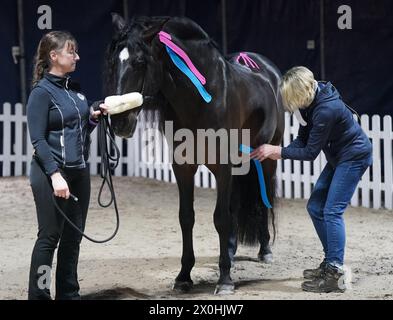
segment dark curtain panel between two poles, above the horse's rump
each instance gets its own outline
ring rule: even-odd
[[[305,65],[319,76],[319,1],[229,1],[227,19],[229,51],[255,51],[282,72]]]

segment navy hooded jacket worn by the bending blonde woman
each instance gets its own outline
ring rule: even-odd
[[[283,159],[312,161],[322,150],[336,167],[372,154],[370,140],[330,82],[319,82],[314,101],[300,112],[307,126],[300,126],[297,138],[282,148]]]

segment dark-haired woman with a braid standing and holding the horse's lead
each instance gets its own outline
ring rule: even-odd
[[[30,184],[37,211],[38,235],[33,249],[28,299],[50,300],[50,273],[57,251],[56,299],[80,299],[77,265],[82,236],[60,215],[63,212],[84,230],[90,199],[87,164],[90,133],[101,110],[89,108],[69,73],[79,61],[75,38],[52,31],[39,42],[35,56],[32,91],[27,103],[27,123],[34,146]],[[99,109],[97,108],[97,109]],[[70,192],[77,201],[68,200]]]

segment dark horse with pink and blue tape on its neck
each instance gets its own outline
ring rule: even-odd
[[[108,48],[107,93],[138,91],[145,96],[145,103],[138,109],[111,116],[117,135],[131,137],[138,113],[143,109],[158,111],[161,123],[171,121],[175,131],[186,128],[197,136],[198,129],[250,129],[252,147],[263,143],[280,144],[284,130],[284,111],[278,90],[280,72],[265,57],[247,53],[245,58],[239,59],[241,56],[237,53],[224,58],[202,28],[187,18],[141,17],[127,24],[114,14],[113,23],[116,31]],[[162,37],[180,48],[191,62],[183,59],[183,71],[176,65],[175,58],[184,56],[179,51],[176,54],[175,50],[169,50],[164,43],[167,40]],[[193,82],[187,76],[186,63],[189,70],[197,69],[194,73],[203,75],[205,83],[195,79]],[[203,96],[202,89],[210,95],[211,101]],[[168,143],[174,148],[180,144],[179,141]],[[217,155],[220,155],[220,144],[221,141],[213,150]],[[195,146],[195,151],[200,150]],[[212,152],[208,148],[204,151]],[[231,161],[210,163],[207,157],[199,162],[179,164],[175,161],[172,167],[179,188],[183,235],[182,267],[175,289],[187,291],[193,284],[190,273],[195,263],[194,175],[202,164],[210,169],[217,182],[214,225],[220,241],[220,277],[216,292],[233,292],[229,237],[237,231],[240,241],[255,243],[262,233],[268,241],[268,213],[271,213],[274,229],[274,212],[262,204],[253,166],[247,174],[235,176],[232,169],[236,165]],[[264,161],[263,171],[273,205],[276,162]]]

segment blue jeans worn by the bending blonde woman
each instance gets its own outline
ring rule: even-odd
[[[325,261],[344,264],[345,225],[343,213],[351,201],[361,177],[372,164],[372,156],[346,161],[323,169],[307,203],[307,211],[321,240]]]

